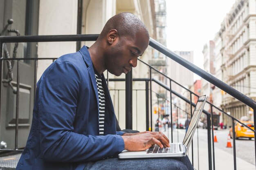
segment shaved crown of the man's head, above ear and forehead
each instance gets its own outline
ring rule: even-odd
[[[119,37],[126,35],[134,37],[137,32],[142,31],[149,38],[149,33],[144,23],[132,13],[119,13],[110,18],[103,27],[99,40],[105,37],[111,29],[116,29]]]

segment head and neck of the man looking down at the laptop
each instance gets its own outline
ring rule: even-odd
[[[119,76],[137,66],[148,43],[148,30],[141,20],[132,13],[119,13],[108,20],[88,51],[99,74],[108,70]]]

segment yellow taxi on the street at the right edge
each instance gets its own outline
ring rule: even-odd
[[[250,128],[254,129],[254,121],[241,121],[243,124],[249,126]],[[238,139],[239,137],[248,137],[250,140],[254,138],[254,132],[243,124],[238,122],[235,123],[235,138]],[[232,127],[229,130],[229,135],[233,138]]]

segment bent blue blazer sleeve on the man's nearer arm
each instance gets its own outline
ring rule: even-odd
[[[56,62],[38,86],[40,150],[46,161],[97,161],[124,150],[119,135],[85,136],[74,132],[80,80],[74,64]]]

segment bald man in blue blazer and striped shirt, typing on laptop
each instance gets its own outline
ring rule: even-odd
[[[143,169],[147,162],[158,162],[112,158],[124,149],[166,147],[169,140],[158,132],[117,132],[103,75],[106,70],[116,76],[128,73],[148,43],[146,26],[135,15],[120,13],[108,20],[90,48],[52,63],[37,83],[31,131],[16,170]],[[183,163],[166,160],[176,169],[192,167],[187,157]]]

